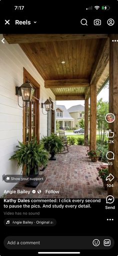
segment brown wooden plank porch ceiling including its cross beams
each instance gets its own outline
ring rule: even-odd
[[[56,99],[84,99],[89,97],[90,81],[98,83],[97,90],[104,82],[100,78],[109,58],[107,35],[11,34],[4,38],[19,43]]]

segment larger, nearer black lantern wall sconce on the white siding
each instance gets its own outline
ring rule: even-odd
[[[27,102],[31,101],[33,93],[34,93],[34,88],[30,84],[29,81],[25,81],[21,86],[15,86],[15,95],[18,96],[18,106],[19,105],[19,96],[22,96],[22,100],[27,104]],[[25,106],[26,106],[25,104]],[[23,107],[25,107],[23,106]],[[22,106],[20,106],[22,107]]]

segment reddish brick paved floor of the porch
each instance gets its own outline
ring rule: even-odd
[[[86,156],[88,147],[70,146],[66,154],[57,154],[56,161],[49,161],[48,166],[40,175],[45,181],[39,183],[32,193],[32,188],[18,183],[13,190],[28,190],[27,194],[7,194],[7,198],[105,198],[107,192],[103,188],[101,179],[96,180],[98,172],[96,167],[101,162],[91,162]],[[38,194],[37,190],[41,190]],[[59,194],[48,194],[45,190],[59,190]],[[52,192],[52,191],[51,191]]]

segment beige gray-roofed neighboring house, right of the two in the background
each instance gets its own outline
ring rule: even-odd
[[[78,121],[84,117],[84,106],[82,105],[71,106],[67,109],[67,111],[71,117],[74,118],[74,127],[76,124],[78,124]]]

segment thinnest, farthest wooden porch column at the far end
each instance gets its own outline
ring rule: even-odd
[[[88,145],[88,99],[84,100],[85,111],[84,111],[84,146]]]

